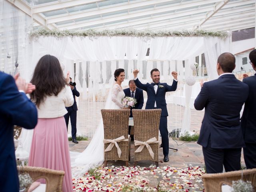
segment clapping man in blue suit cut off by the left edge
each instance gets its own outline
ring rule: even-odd
[[[14,78],[16,81],[14,81]],[[37,124],[36,106],[25,93],[35,86],[0,72],[0,191],[18,192],[19,180],[13,142],[13,126],[33,129]]]

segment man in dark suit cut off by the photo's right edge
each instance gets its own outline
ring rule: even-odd
[[[256,49],[249,54],[250,64],[256,71]],[[247,169],[256,168],[256,74],[248,77],[244,74],[243,82],[249,86],[249,96],[244,105],[241,120],[244,134],[244,161]]]

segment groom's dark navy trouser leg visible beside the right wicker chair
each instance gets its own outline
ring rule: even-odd
[[[169,138],[168,138],[168,129],[167,129],[167,116],[160,117],[159,130],[162,137],[163,153],[164,156],[169,154]]]

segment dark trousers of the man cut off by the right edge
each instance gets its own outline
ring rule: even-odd
[[[245,143],[244,161],[247,169],[256,168],[256,143]]]

